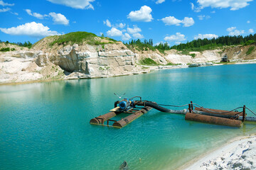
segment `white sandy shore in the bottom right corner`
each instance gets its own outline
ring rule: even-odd
[[[186,170],[256,169],[256,134],[237,137],[223,147],[183,166]]]

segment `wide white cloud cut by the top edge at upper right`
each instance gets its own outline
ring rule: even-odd
[[[250,1],[253,0],[198,0],[200,8],[211,7],[211,8],[230,8],[231,11],[245,8],[248,6]]]

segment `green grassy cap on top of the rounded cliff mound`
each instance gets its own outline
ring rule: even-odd
[[[87,33],[87,32],[74,32],[74,33],[67,33],[65,35],[55,35],[53,36],[55,40],[50,42],[50,45],[64,45],[64,44],[82,44],[82,42],[87,42],[90,45],[104,45],[117,42],[117,40],[113,40],[112,38],[105,38],[105,37],[98,37],[94,33]],[[108,40],[109,42],[100,42],[100,40],[96,40],[95,38],[101,38],[102,40]]]

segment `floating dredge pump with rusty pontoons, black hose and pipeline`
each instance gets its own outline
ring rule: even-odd
[[[139,98],[139,101],[134,101],[134,98]],[[188,109],[171,110],[169,108],[164,108],[162,106],[188,106]],[[203,108],[202,106],[199,106],[198,104],[193,103],[192,101],[191,103],[183,106],[173,106],[157,104],[152,101],[142,101],[142,97],[134,96],[132,98],[124,98],[122,101],[116,101],[114,103],[114,108],[110,110],[109,113],[106,113],[105,115],[100,115],[96,118],[92,118],[92,120],[90,120],[90,124],[104,126],[106,125],[112,126],[114,128],[123,128],[124,126],[131,123],[133,120],[139,118],[141,115],[144,115],[145,113],[150,111],[152,108],[155,108],[156,110],[165,113],[176,113],[186,115],[185,120],[192,120],[215,125],[228,125],[233,127],[240,127],[242,125],[242,122],[244,121],[256,122],[256,117],[247,117],[245,110],[247,109],[250,112],[252,111],[249,108],[246,108],[245,106],[235,108],[232,111],[223,111]],[[238,112],[238,109],[242,109],[242,111]],[[127,116],[125,118],[121,118],[121,120],[111,120],[111,118],[122,113],[127,114]],[[255,115],[255,113],[253,114]],[[110,122],[112,122],[113,124],[110,125]]]

